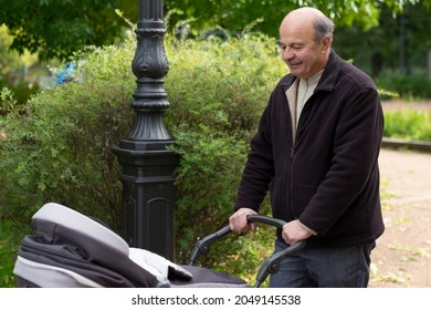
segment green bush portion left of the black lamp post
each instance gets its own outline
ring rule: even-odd
[[[119,217],[118,167],[111,147],[130,128],[129,52],[106,48],[87,56],[85,83],[49,89],[3,121],[2,216],[28,223],[44,203],[57,202]]]

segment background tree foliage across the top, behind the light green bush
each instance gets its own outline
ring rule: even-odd
[[[4,2],[4,3],[3,3]],[[0,0],[0,24],[9,32],[0,40],[0,86],[15,90],[18,102],[25,101],[45,83],[29,81],[29,72],[45,63],[20,64],[9,61],[11,51],[49,62],[76,60],[88,45],[102,46],[124,41],[127,20],[136,24],[139,0]],[[146,2],[146,1],[143,1]],[[284,14],[301,6],[323,10],[336,22],[334,48],[345,59],[389,85],[390,91],[414,97],[429,96],[431,79],[430,0],[166,0],[165,21],[169,32],[199,38],[209,32],[253,32],[277,37]],[[23,18],[24,17],[24,18]],[[0,37],[4,37],[0,34]],[[28,52],[27,52],[28,53]],[[11,65],[15,64],[15,65]],[[57,64],[54,64],[57,65]],[[4,72],[7,71],[7,72]],[[4,73],[3,73],[4,72]],[[18,73],[18,74],[17,74]],[[19,84],[11,76],[21,76]],[[402,84],[392,83],[392,75]],[[44,79],[41,79],[44,80]],[[428,83],[421,80],[427,80]],[[379,82],[380,82],[379,81]],[[408,87],[408,89],[407,89]],[[428,87],[428,89],[427,89]]]

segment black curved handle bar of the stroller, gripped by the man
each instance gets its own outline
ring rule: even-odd
[[[264,215],[259,215],[259,214],[249,215],[248,221],[249,223],[262,223],[262,224],[266,224],[266,225],[270,225],[270,226],[273,226],[276,228],[283,228],[283,226],[286,224],[286,221],[282,220],[282,219],[273,218],[273,217],[269,217],[269,216],[264,216]],[[211,245],[214,241],[217,241],[220,238],[228,235],[229,232],[231,232],[231,229],[228,225],[228,226],[224,226],[223,228],[221,228],[220,230],[200,239],[196,244],[193,250],[191,251],[189,265],[190,266],[195,265],[195,262],[197,261],[199,256],[207,255],[211,249]],[[278,252],[275,252],[271,257],[269,257],[264,261],[264,264],[261,266],[261,268],[257,272],[256,282],[255,282],[254,287],[255,288],[260,287],[261,283],[263,283],[265,281],[265,279],[267,278],[269,275],[274,275],[275,272],[277,272],[278,268],[280,268],[280,262],[283,259],[285,259],[286,257],[292,256],[292,255],[298,252],[299,250],[302,250],[305,247],[305,242],[306,242],[305,240],[298,241],[298,242],[287,247],[286,249],[278,251]]]

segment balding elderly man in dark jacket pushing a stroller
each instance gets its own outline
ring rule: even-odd
[[[334,22],[301,8],[280,27],[290,73],[271,94],[251,142],[231,229],[249,229],[267,190],[275,251],[299,240],[270,287],[367,287],[370,252],[383,234],[378,156],[382,108],[372,80],[332,49]],[[255,228],[255,225],[252,225]]]

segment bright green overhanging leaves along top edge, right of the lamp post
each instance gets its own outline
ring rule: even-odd
[[[425,0],[429,2],[429,0]],[[253,30],[276,37],[278,24],[287,11],[298,7],[315,7],[335,20],[337,25],[359,25],[370,29],[378,24],[382,3],[393,12],[402,9],[402,3],[417,0],[166,0],[172,13],[171,24],[190,20],[191,28],[204,29],[223,27],[229,30],[243,30],[259,20]]]

